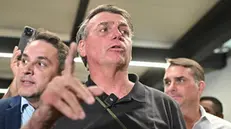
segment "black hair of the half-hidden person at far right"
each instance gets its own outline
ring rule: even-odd
[[[203,96],[200,98],[200,101],[204,101],[204,100],[209,100],[213,103],[212,108],[215,111],[216,115],[223,114],[222,103],[217,98],[212,96]]]

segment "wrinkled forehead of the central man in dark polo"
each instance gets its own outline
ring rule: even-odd
[[[110,12],[101,12],[92,17],[87,27],[94,28],[100,24],[116,24],[116,25],[125,25],[128,26],[128,21],[120,14],[110,13]],[[128,26],[129,27],[129,26]]]

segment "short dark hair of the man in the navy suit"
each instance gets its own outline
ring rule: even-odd
[[[45,40],[58,50],[58,73],[61,74],[61,72],[64,69],[66,56],[68,54],[68,46],[64,42],[62,42],[61,39],[55,33],[52,33],[43,28],[39,28],[36,30],[36,34],[34,35],[32,41],[34,40]]]

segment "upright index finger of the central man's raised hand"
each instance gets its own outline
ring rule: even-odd
[[[63,75],[70,75],[74,70],[74,58],[77,54],[77,44],[71,43],[68,55],[65,60],[64,70],[62,72]]]

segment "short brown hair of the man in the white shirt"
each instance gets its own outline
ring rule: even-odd
[[[204,69],[202,66],[197,63],[196,61],[188,58],[168,58],[167,63],[169,63],[169,66],[182,66],[185,68],[190,68],[193,71],[194,74],[194,79],[196,81],[204,81],[205,80],[205,75],[204,75]]]

